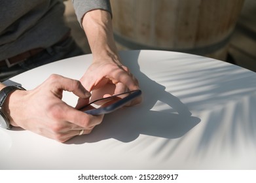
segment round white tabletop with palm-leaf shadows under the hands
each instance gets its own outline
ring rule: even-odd
[[[120,56],[139,79],[141,105],[107,114],[90,135],[64,144],[0,129],[0,169],[256,169],[256,73],[177,52]],[[79,79],[91,61],[57,61],[11,82],[29,90],[52,73]]]

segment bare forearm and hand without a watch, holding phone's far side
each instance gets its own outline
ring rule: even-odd
[[[139,89],[137,79],[120,62],[113,38],[111,14],[105,10],[87,12],[82,19],[82,27],[93,56],[92,65],[81,78],[84,88],[91,92],[111,83],[115,84],[114,94]],[[131,105],[140,102],[141,98],[137,98]],[[82,103],[82,99],[79,99],[79,103]]]

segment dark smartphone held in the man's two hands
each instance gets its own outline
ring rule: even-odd
[[[139,95],[141,95],[141,90],[124,92],[117,95],[112,95],[110,97],[97,99],[79,110],[86,112],[86,114],[92,115],[107,114],[117,110],[120,107],[123,107],[130,101],[136,99],[136,97],[139,97]]]

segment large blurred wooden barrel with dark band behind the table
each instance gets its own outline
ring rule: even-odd
[[[119,48],[225,60],[244,0],[111,0]],[[121,45],[121,46],[120,46]]]

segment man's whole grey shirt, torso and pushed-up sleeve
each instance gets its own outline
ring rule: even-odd
[[[111,12],[109,0],[72,0],[77,18],[94,9]],[[0,61],[47,48],[69,31],[62,0],[0,0]]]

